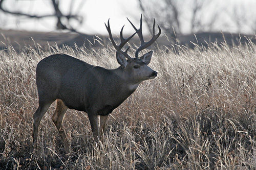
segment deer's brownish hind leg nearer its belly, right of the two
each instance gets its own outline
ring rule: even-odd
[[[68,107],[61,101],[57,100],[56,110],[52,116],[53,123],[55,124],[57,130],[59,131],[60,137],[63,141],[64,148],[66,153],[70,153],[69,142],[66,136],[65,131],[62,128],[63,118],[65,116]]]

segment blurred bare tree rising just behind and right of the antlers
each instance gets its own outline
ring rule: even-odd
[[[217,3],[211,0],[158,0],[151,1],[151,3],[147,3],[145,0],[138,0],[138,2],[145,16],[145,22],[149,22],[148,18],[157,18],[164,33],[170,37],[174,37],[175,33],[183,33],[184,27],[187,27],[184,22],[188,23],[189,32],[191,33],[211,31],[220,11],[216,9],[209,10],[210,7],[216,6]],[[185,16],[187,14],[189,14],[189,17]],[[205,19],[205,14],[207,14],[208,19]],[[185,21],[184,18],[186,18]],[[148,28],[150,29],[150,27]]]

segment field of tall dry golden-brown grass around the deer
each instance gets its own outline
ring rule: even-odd
[[[98,146],[86,113],[69,110],[63,124],[70,155],[51,120],[54,106],[31,151],[36,64],[66,53],[115,68],[113,49],[0,51],[0,169],[255,169],[256,46],[210,46],[156,51],[150,65],[159,76],[113,111]]]

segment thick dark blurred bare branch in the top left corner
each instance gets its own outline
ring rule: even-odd
[[[77,32],[77,30],[71,26],[70,20],[76,20],[80,24],[83,21],[83,17],[78,15],[79,10],[76,10],[76,14],[73,14],[73,4],[75,1],[71,1],[70,12],[67,15],[65,15],[65,14],[63,14],[63,12],[61,12],[61,9],[59,8],[60,2],[58,0],[51,0],[51,5],[53,6],[54,13],[45,14],[45,15],[32,15],[30,13],[24,13],[24,12],[20,12],[20,11],[12,11],[9,9],[5,9],[4,2],[6,2],[6,1],[0,0],[0,10],[3,11],[4,13],[16,15],[16,16],[26,16],[28,18],[36,18],[36,19],[41,19],[41,18],[46,18],[46,17],[57,18],[56,29],[58,29],[58,30],[70,30],[72,32]],[[84,2],[85,1],[81,1],[81,4],[79,5],[79,7],[83,6]],[[77,32],[77,33],[79,33],[79,32]]]

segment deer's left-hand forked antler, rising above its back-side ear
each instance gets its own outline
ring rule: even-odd
[[[105,23],[105,26],[106,26],[106,23]],[[124,27],[124,26],[123,26],[123,27]],[[114,41],[114,39],[113,39],[113,37],[112,37],[112,33],[111,33],[111,30],[110,30],[110,19],[108,20],[108,26],[106,26],[106,30],[108,30],[108,32],[109,32],[110,40],[111,40],[113,46],[115,47],[115,49],[116,49],[118,52],[122,53],[122,54],[124,55],[124,57],[126,57],[126,58],[129,59],[129,60],[131,60],[132,58],[127,54],[127,51],[129,50],[130,46],[127,47],[127,49],[126,49],[124,52],[121,51],[121,49],[122,49],[122,47],[125,45],[125,43],[128,42],[128,41],[136,34],[136,32],[135,32],[133,35],[131,35],[130,37],[128,37],[128,38],[125,39],[125,38],[123,38],[123,27],[122,27],[122,29],[121,29],[121,31],[120,31],[120,39],[121,39],[121,42],[120,42],[119,45],[117,45],[117,44],[115,43],[115,41]]]

